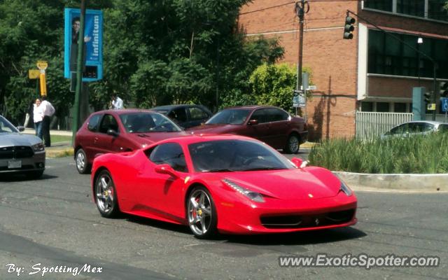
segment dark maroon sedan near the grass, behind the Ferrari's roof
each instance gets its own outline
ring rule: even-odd
[[[297,153],[308,139],[307,123],[273,106],[239,106],[224,109],[189,132],[239,134],[253,137],[285,153]]]

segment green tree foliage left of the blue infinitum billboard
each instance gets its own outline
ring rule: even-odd
[[[63,77],[64,7],[78,1],[0,1],[0,113],[15,125],[22,123],[29,103],[38,97],[36,80],[28,70],[38,60],[48,62],[48,98],[57,116],[66,116],[73,102],[69,82]],[[90,1],[106,6],[107,1]]]

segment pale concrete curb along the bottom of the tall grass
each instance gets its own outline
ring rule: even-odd
[[[448,174],[363,174],[333,172],[356,190],[447,192]]]

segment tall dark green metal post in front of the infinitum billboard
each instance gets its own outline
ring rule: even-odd
[[[76,132],[79,129],[79,112],[80,112],[80,96],[82,93],[81,87],[83,83],[83,58],[84,58],[84,22],[85,22],[85,6],[87,0],[81,0],[81,14],[80,14],[80,28],[78,31],[78,57],[76,60],[76,92],[75,103],[73,104],[73,126],[71,130],[73,137],[71,139],[72,144],[75,142]]]

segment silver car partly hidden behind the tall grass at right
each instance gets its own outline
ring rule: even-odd
[[[412,135],[424,135],[432,132],[448,132],[448,123],[440,123],[431,120],[415,120],[391,128],[391,130],[381,135],[381,138],[409,137]]]

